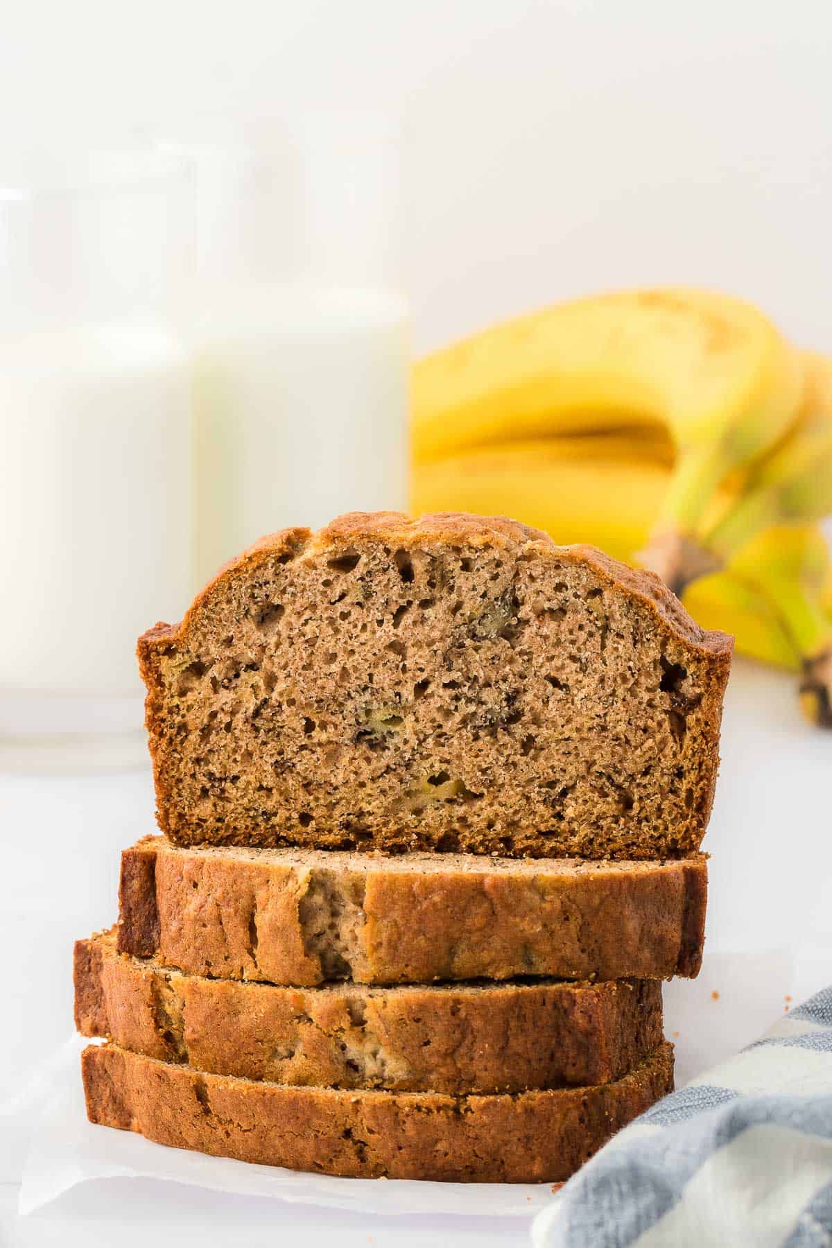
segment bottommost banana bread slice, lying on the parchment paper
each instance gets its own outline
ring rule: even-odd
[[[660,1045],[615,1083],[498,1096],[342,1091],[203,1075],[112,1045],[82,1055],[91,1122],[175,1148],[356,1178],[566,1179],[672,1088]]]

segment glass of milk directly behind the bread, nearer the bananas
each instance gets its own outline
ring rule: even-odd
[[[266,533],[407,505],[397,156],[351,114],[190,151],[200,580]]]

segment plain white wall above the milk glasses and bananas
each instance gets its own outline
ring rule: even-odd
[[[0,0],[21,146],[400,120],[417,349],[695,282],[832,347],[828,0]],[[1,180],[1,177],[0,177]]]

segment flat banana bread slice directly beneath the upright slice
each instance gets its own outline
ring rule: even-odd
[[[180,847],[121,859],[119,948],[191,975],[313,985],[699,972],[706,861]]]

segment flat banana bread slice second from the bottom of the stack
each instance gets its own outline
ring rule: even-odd
[[[661,983],[288,988],[75,945],[84,1036],[215,1075],[393,1092],[520,1092],[620,1078],[661,1033]]]

